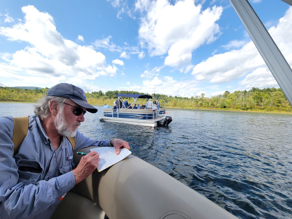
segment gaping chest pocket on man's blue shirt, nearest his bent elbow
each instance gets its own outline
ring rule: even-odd
[[[41,173],[44,171],[44,166],[34,160],[19,160],[16,163],[18,167],[18,183],[36,184],[39,181]]]

